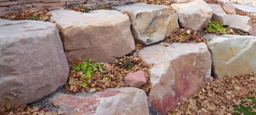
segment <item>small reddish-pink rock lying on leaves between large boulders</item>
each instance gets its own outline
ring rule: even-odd
[[[147,83],[145,72],[141,70],[134,73],[128,73],[124,79],[125,84],[131,87],[139,88]]]

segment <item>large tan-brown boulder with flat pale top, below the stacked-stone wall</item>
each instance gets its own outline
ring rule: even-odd
[[[126,14],[103,9],[90,13],[68,10],[50,13],[51,21],[55,21],[61,31],[70,62],[80,58],[110,62],[135,49],[131,23]]]

